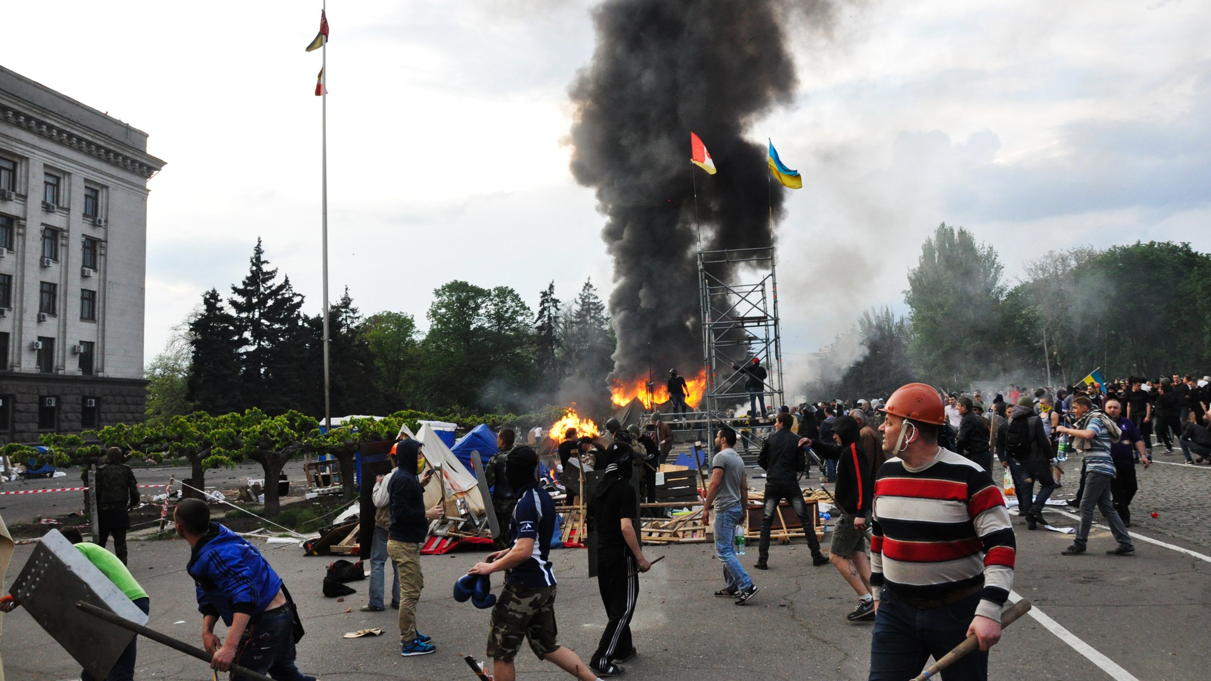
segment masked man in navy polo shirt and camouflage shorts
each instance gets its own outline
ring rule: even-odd
[[[489,554],[476,563],[470,574],[505,572],[505,588],[492,611],[488,631],[488,657],[493,660],[497,681],[513,681],[513,658],[522,640],[539,659],[553,662],[580,681],[597,681],[576,653],[556,642],[555,570],[549,560],[555,533],[555,502],[538,486],[534,475],[538,454],[522,446],[509,454],[505,475],[513,488],[517,505],[510,520],[513,545]]]

